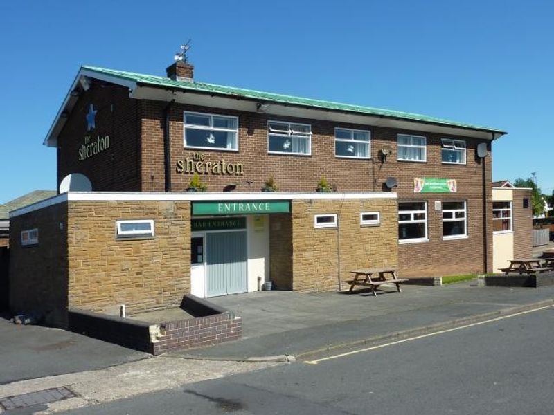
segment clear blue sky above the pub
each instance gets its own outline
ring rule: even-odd
[[[552,1],[2,1],[0,203],[55,189],[44,136],[82,64],[509,131],[493,176],[554,186]]]

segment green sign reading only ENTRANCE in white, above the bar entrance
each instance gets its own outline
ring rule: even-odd
[[[202,214],[262,214],[289,212],[289,201],[193,202],[193,216],[199,216]]]

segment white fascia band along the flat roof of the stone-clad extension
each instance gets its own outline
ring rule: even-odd
[[[68,192],[10,212],[10,218],[66,201],[294,201],[294,200],[397,199],[396,193],[155,193]]]

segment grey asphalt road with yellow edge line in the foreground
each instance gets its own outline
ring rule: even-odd
[[[551,414],[554,309],[71,414]]]

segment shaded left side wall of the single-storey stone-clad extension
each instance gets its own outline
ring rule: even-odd
[[[46,323],[66,325],[67,203],[10,220],[10,309],[36,313]],[[22,230],[37,228],[39,242],[21,246]]]

